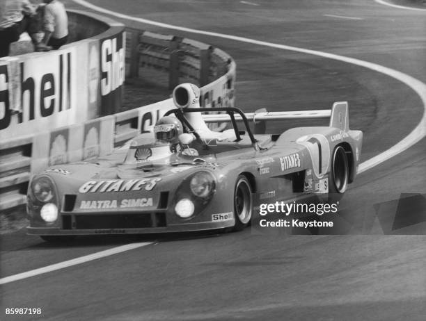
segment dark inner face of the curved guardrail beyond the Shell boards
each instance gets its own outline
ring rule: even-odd
[[[168,74],[168,88],[182,82],[203,87],[226,74],[232,58],[196,40],[126,28],[126,77],[143,77],[143,68]]]

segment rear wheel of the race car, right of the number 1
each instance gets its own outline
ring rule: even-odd
[[[347,190],[349,183],[349,164],[345,149],[337,146],[331,158],[329,179],[329,201],[338,201]]]

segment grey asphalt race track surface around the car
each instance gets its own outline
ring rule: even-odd
[[[366,0],[90,3],[157,22],[358,58],[426,83],[422,11]],[[237,61],[237,104],[246,111],[323,109],[349,101],[350,126],[365,134],[363,161],[402,140],[423,115],[411,88],[370,69],[123,22],[230,53]],[[413,195],[426,194],[425,172],[423,138],[360,174],[340,204],[346,235],[246,229],[190,237],[83,238],[66,245],[49,245],[24,231],[4,235],[1,278],[129,242],[152,243],[3,284],[0,319],[19,319],[4,315],[7,307],[40,307],[40,320],[425,320],[426,220],[395,229],[396,218],[413,211]]]

